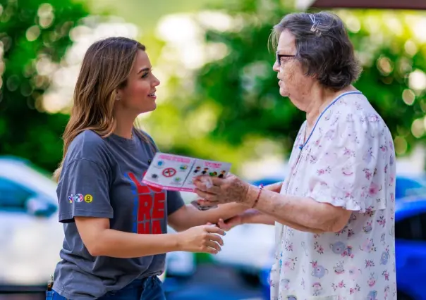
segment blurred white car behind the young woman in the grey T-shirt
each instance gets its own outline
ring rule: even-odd
[[[189,201],[192,195],[183,196]],[[56,182],[23,159],[0,157],[0,290],[47,284],[63,243],[58,219]],[[166,257],[170,275],[194,273],[193,254]]]

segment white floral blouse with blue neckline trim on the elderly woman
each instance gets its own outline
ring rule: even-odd
[[[395,300],[396,165],[387,125],[360,92],[334,99],[307,139],[305,123],[281,194],[353,213],[341,231],[321,235],[276,223],[272,300]]]

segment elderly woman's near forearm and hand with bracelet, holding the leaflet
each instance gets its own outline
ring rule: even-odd
[[[315,233],[338,232],[348,223],[351,216],[351,211],[308,197],[288,196],[269,189],[260,192],[259,188],[248,185],[233,175],[224,179],[212,178],[212,182],[213,187],[206,187],[200,179],[194,181],[197,194],[207,200],[207,205],[208,201],[237,201],[248,208],[255,206],[258,211],[272,217],[272,220],[296,230]],[[259,199],[255,203],[259,193]],[[272,220],[262,223],[269,224]]]

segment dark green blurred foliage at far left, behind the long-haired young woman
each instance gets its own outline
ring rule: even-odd
[[[0,1],[0,154],[54,170],[68,115],[45,113],[46,68],[71,44],[70,30],[87,8],[71,0]]]

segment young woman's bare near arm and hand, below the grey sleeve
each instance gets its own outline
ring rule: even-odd
[[[75,217],[78,233],[92,256],[134,258],[171,251],[217,254],[224,230],[213,225],[190,228],[177,234],[140,235],[109,228],[109,219]]]

